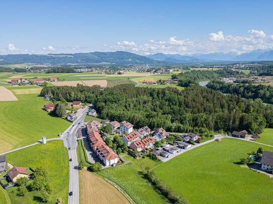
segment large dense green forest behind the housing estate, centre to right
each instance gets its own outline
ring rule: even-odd
[[[250,133],[273,127],[273,106],[261,100],[244,100],[235,95],[190,85],[154,89],[118,85],[100,91],[100,87],[45,87],[41,95],[52,94],[59,101],[80,100],[94,103],[103,118],[128,120],[135,128],[148,125],[174,132],[226,131],[246,129]]]

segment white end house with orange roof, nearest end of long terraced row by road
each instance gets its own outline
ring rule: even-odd
[[[97,155],[105,166],[113,166],[119,161],[119,156],[107,145],[98,147]]]

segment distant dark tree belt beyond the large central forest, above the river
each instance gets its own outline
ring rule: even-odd
[[[219,69],[215,71],[209,70],[192,70],[190,72],[182,72],[172,78],[183,79],[188,78],[196,82],[200,81],[209,81],[209,80],[218,80],[228,77],[245,77],[246,75],[243,72],[233,71],[230,69]]]

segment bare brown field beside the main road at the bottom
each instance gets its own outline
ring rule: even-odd
[[[85,169],[79,171],[80,203],[130,203],[126,197],[105,179]],[[111,195],[111,196],[109,196]]]

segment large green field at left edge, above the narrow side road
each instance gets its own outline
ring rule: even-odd
[[[0,102],[0,152],[58,137],[70,123],[42,110],[49,103],[36,94],[16,95],[18,101]]]

